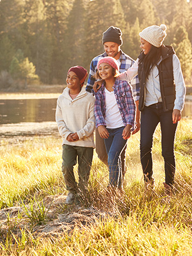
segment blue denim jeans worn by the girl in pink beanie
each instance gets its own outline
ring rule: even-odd
[[[109,185],[122,188],[122,162],[120,155],[126,146],[127,140],[122,137],[123,129],[119,127],[116,129],[108,129],[109,137],[105,138],[105,147],[108,154],[109,165]]]

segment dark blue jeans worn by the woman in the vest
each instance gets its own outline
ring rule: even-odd
[[[177,123],[173,124],[172,111],[163,111],[162,103],[145,106],[141,112],[140,157],[144,180],[152,178],[152,141],[160,122],[162,156],[165,162],[165,183],[172,185],[175,176],[174,141]]]

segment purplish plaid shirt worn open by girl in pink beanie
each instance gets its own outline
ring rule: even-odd
[[[105,86],[103,83],[101,89],[98,90],[97,93],[95,93],[94,114],[96,127],[100,125],[106,126],[104,89]],[[131,125],[131,131],[133,131],[135,129],[136,104],[133,99],[133,92],[131,90],[131,86],[129,85],[129,83],[127,83],[127,81],[116,79],[113,86],[113,91],[124,125]]]

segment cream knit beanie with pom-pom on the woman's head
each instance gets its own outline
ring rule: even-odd
[[[143,31],[139,33],[140,37],[150,42],[150,44],[155,47],[161,47],[163,40],[166,37],[166,26],[161,24],[161,26],[151,26],[146,27]]]

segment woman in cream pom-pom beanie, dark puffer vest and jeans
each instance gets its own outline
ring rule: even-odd
[[[138,74],[140,80],[140,158],[146,188],[154,186],[151,150],[153,135],[160,122],[165,162],[163,185],[165,193],[170,196],[175,177],[175,133],[177,122],[181,119],[186,87],[175,51],[171,46],[162,44],[166,26],[150,26],[139,35],[142,52],[134,65],[120,74],[119,79],[130,81]]]

